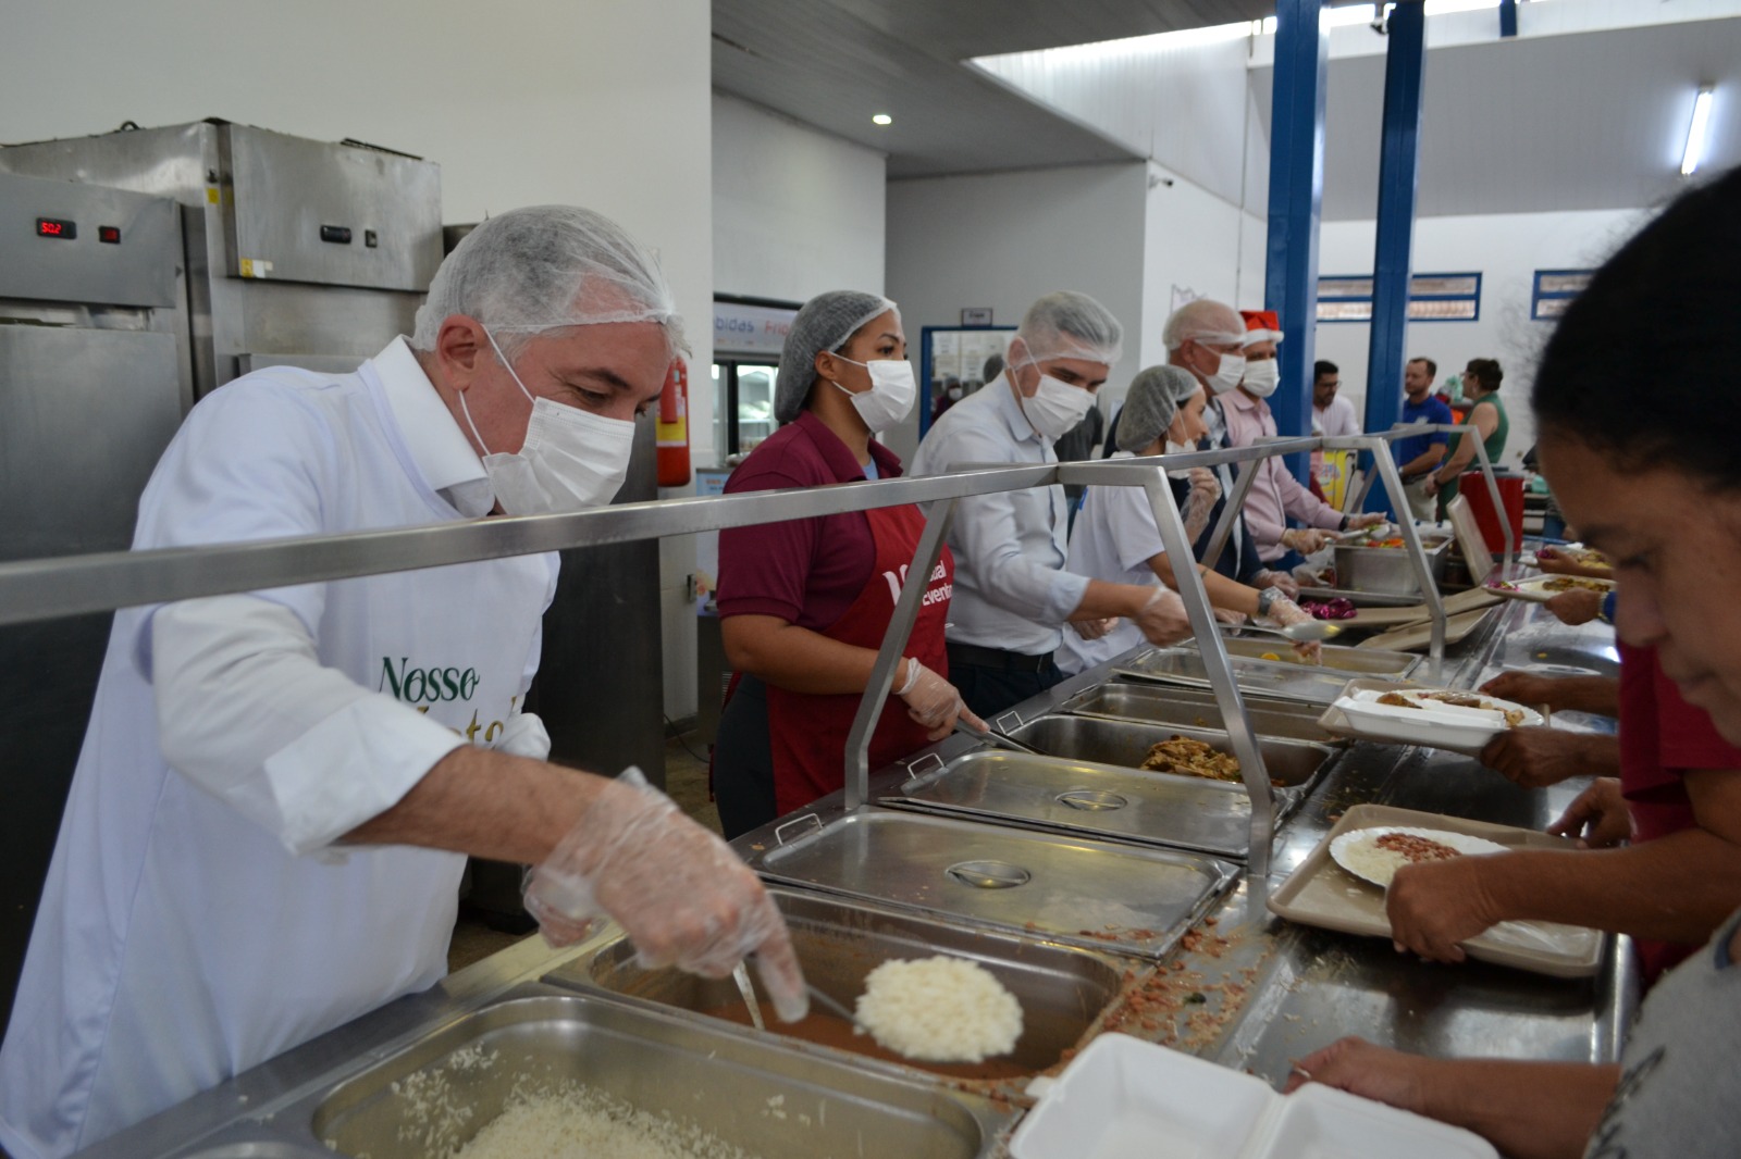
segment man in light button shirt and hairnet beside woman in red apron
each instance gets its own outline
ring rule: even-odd
[[[1123,327],[1086,294],[1046,294],[1010,339],[1003,378],[952,405],[919,444],[914,475],[973,463],[1055,463],[1052,444],[1081,421],[1119,358]],[[949,680],[992,719],[1064,679],[1062,626],[1090,639],[1128,616],[1154,644],[1191,635],[1184,602],[1161,586],[1107,583],[1064,569],[1064,487],[961,499],[949,531],[956,593]]]

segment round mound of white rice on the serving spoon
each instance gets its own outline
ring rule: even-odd
[[[959,957],[883,962],[858,995],[877,1046],[923,1062],[984,1062],[1022,1037],[1022,1004],[996,975]]]

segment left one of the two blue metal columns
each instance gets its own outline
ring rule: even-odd
[[[1269,117],[1269,244],[1264,308],[1281,318],[1281,386],[1269,399],[1276,433],[1311,433],[1318,327],[1318,218],[1323,205],[1323,97],[1330,26],[1323,0],[1276,0],[1276,73]],[[1306,482],[1304,454],[1287,458]]]

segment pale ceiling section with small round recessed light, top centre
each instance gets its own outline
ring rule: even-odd
[[[1273,0],[714,0],[714,87],[916,178],[1139,157],[961,61],[1255,19]],[[872,113],[895,124],[877,127]]]

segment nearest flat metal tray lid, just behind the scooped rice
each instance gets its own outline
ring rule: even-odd
[[[1139,957],[1165,955],[1238,875],[1193,853],[876,806],[778,834],[749,858],[770,881]]]

